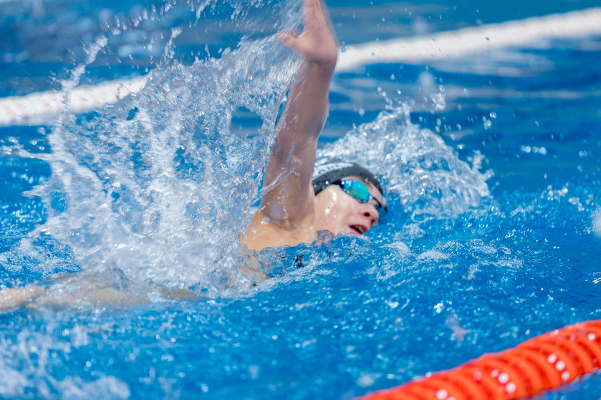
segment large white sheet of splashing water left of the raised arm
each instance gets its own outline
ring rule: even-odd
[[[168,11],[167,4],[151,14]],[[299,13],[290,10],[279,21],[298,22]],[[117,35],[127,29],[118,26]],[[163,61],[141,92],[90,121],[66,110],[49,134],[48,154],[10,149],[46,161],[52,176],[28,193],[46,204],[46,222],[3,254],[3,264],[16,268],[33,259],[44,272],[56,272],[63,257],[36,245],[49,236],[88,273],[117,270],[133,281],[209,296],[247,284],[237,236],[256,200],[281,94],[299,58],[268,36],[186,66],[173,58],[172,40],[180,34],[172,29]],[[67,94],[108,42],[100,37],[88,46],[85,61],[63,82]],[[262,119],[257,136],[230,132],[238,107]]]

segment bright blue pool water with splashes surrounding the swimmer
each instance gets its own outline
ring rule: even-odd
[[[335,75],[318,161],[377,171],[386,220],[240,251],[299,62],[269,37],[298,5],[0,2],[1,97],[152,77],[0,128],[0,283],[55,299],[0,314],[0,397],[350,399],[601,318],[599,37]],[[595,5],[329,7],[349,45]],[[146,302],[78,300],[86,282]],[[600,390],[591,375],[540,399]]]

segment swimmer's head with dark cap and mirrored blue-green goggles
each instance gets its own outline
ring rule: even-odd
[[[364,234],[386,210],[382,185],[371,172],[353,163],[335,162],[313,171],[317,230]]]

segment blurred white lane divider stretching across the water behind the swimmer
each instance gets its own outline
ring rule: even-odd
[[[0,0],[2,1],[2,0]],[[337,72],[362,65],[403,62],[423,64],[453,59],[496,47],[523,46],[550,38],[601,35],[601,7],[551,14],[517,21],[463,28],[412,38],[397,38],[346,46],[338,58]],[[64,92],[37,92],[0,99],[0,126],[35,125],[64,109],[75,113],[116,103],[145,85],[144,77],[118,79],[94,86],[80,86],[69,96]]]

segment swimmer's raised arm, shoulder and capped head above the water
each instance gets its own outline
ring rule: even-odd
[[[314,168],[338,56],[320,0],[304,0],[304,32],[276,40],[304,56],[276,127],[258,212],[239,240],[253,250],[313,243],[317,232],[364,234],[386,209],[376,177],[352,163]]]

